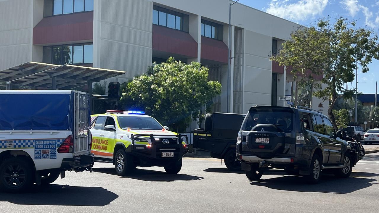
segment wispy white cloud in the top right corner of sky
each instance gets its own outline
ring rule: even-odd
[[[341,4],[347,11],[349,11],[350,16],[352,17],[356,16],[357,12],[361,10],[365,16],[365,24],[368,27],[374,28],[376,23],[379,23],[379,16],[373,21],[373,12],[371,12],[366,6],[359,4],[358,0],[342,0]],[[376,2],[376,4],[378,4],[378,2]]]

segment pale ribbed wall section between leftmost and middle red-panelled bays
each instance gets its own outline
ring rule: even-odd
[[[121,82],[145,73],[152,65],[152,10],[147,0],[94,1],[93,66],[126,71]]]

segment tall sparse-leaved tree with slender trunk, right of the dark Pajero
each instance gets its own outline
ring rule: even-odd
[[[378,59],[378,54],[376,34],[340,17],[334,23],[323,18],[315,26],[299,27],[271,59],[280,66],[291,66],[295,77],[316,89],[314,96],[330,100],[328,115],[337,127],[332,112],[337,97],[352,97],[355,92],[344,89],[343,83],[354,80],[357,64],[367,72],[367,65],[373,58]],[[316,75],[323,76],[321,81],[315,80]]]

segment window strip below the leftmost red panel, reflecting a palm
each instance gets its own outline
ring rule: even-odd
[[[91,64],[92,58],[92,44],[65,44],[45,46],[42,61],[49,64]]]

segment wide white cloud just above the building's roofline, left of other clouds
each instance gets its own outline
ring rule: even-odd
[[[301,21],[321,15],[328,0],[298,0],[290,3],[289,0],[271,0],[266,12],[274,16]]]

